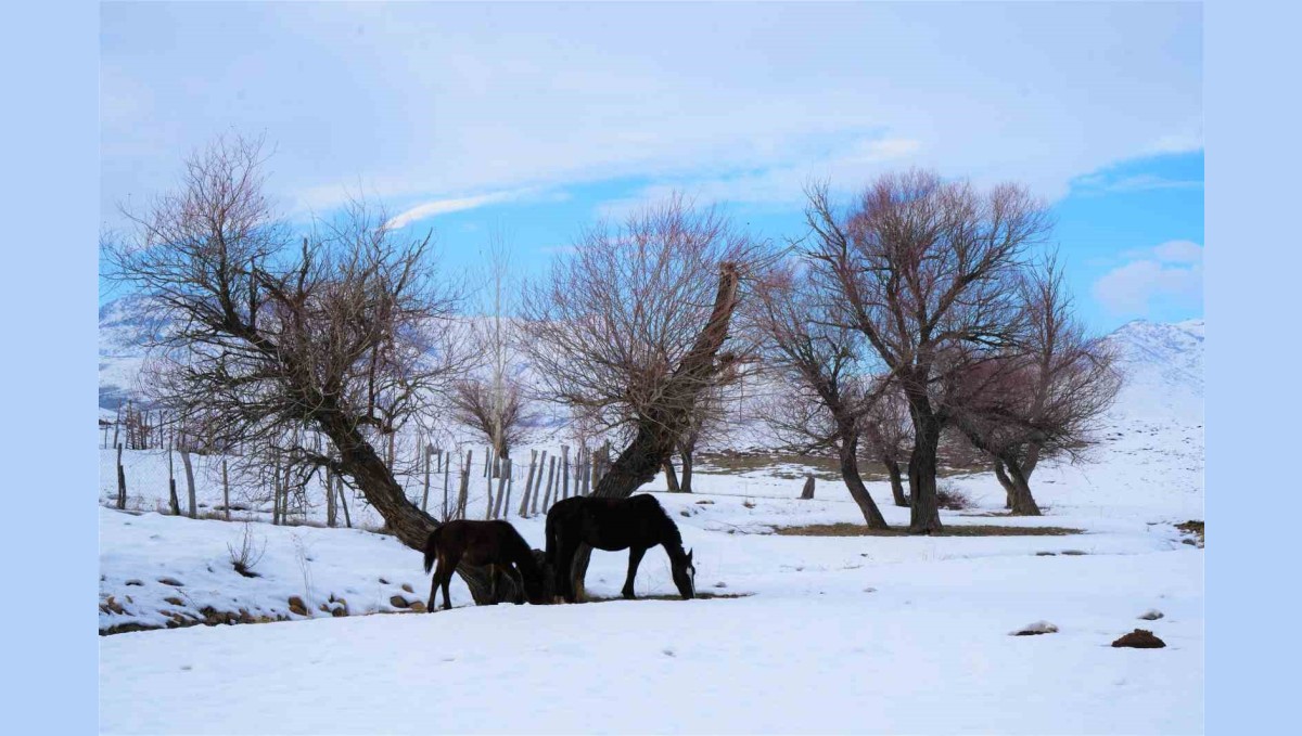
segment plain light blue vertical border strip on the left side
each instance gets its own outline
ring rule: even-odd
[[[14,3],[4,77],[0,731],[94,733],[99,8]]]

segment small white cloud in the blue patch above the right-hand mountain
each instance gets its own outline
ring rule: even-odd
[[[1100,277],[1094,298],[1113,315],[1144,316],[1155,307],[1197,308],[1203,302],[1203,247],[1168,241]]]

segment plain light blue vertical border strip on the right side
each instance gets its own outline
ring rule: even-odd
[[[1298,701],[1295,3],[1204,7],[1207,732],[1282,733]]]

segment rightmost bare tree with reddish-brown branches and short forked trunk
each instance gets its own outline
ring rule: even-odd
[[[1108,345],[1072,311],[1056,256],[1018,289],[1023,333],[1016,354],[969,364],[950,388],[953,424],[995,464],[1014,515],[1039,516],[1030,479],[1044,458],[1077,459],[1121,386]]]

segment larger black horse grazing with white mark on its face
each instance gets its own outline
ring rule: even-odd
[[[684,598],[695,597],[697,568],[691,564],[691,551],[682,550],[678,525],[654,495],[575,495],[557,502],[547,512],[547,567],[555,576],[556,592],[570,603],[575,602],[570,570],[581,544],[607,551],[629,550],[629,577],[622,590],[625,598],[634,598],[633,579],[642,555],[656,545],[664,545],[678,593]]]

